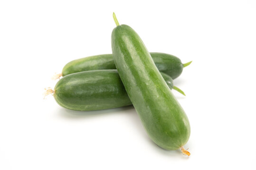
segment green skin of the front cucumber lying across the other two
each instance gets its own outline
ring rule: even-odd
[[[189,120],[139,35],[130,26],[117,26],[111,44],[119,76],[148,135],[166,150],[179,149],[189,140]]]

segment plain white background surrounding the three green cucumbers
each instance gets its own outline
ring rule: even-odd
[[[132,106],[73,111],[43,89],[63,66],[111,53],[112,13],[184,68],[173,92],[191,136],[165,151]],[[255,0],[1,0],[0,170],[256,169]]]

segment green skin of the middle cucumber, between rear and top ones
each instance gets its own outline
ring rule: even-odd
[[[170,89],[171,76],[161,73]],[[131,105],[116,69],[73,73],[61,78],[54,89],[56,102],[71,110],[102,110]]]

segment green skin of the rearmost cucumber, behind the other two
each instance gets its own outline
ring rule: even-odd
[[[182,73],[183,64],[178,57],[160,52],[151,52],[150,54],[157,68],[161,72],[171,76],[172,79],[177,78]],[[98,69],[116,69],[113,55],[102,54],[70,61],[62,69],[62,76],[81,71]]]

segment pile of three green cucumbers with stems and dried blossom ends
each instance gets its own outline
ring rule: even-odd
[[[180,59],[166,53],[148,52],[139,35],[119,25],[111,35],[113,54],[70,61],[52,93],[56,102],[71,110],[103,110],[133,104],[150,138],[166,150],[180,149],[190,137],[190,123],[171,92],[173,79],[184,67]],[[184,94],[185,95],[185,94]]]

